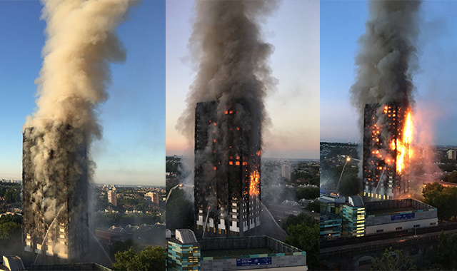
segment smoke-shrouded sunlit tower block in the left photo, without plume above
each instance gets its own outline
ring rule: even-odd
[[[26,128],[23,135],[22,244],[31,257],[71,260],[89,249],[86,138],[65,125],[49,133]]]

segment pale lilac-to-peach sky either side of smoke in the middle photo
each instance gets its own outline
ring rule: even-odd
[[[166,1],[166,154],[184,154],[175,129],[196,73],[187,44],[193,1]],[[274,46],[270,63],[278,86],[266,98],[272,126],[263,133],[263,157],[318,158],[319,1],[286,0],[262,26]],[[190,150],[192,151],[192,150]]]

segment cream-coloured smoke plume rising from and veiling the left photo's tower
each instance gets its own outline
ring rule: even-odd
[[[131,3],[43,1],[47,39],[36,79],[39,98],[24,124],[24,220],[30,226],[24,231],[32,231],[24,234],[32,239],[36,230],[42,240],[42,232],[62,208],[70,215],[81,212],[72,218],[87,223],[87,185],[94,168],[89,147],[101,137],[97,114],[108,97],[109,63],[126,58],[114,31]]]

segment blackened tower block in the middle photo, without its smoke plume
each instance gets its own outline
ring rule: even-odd
[[[254,235],[260,227],[260,127],[247,131],[236,108],[197,103],[194,200],[197,237]]]

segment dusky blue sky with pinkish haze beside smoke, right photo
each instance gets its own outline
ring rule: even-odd
[[[457,145],[457,1],[423,1],[414,108],[416,143]],[[321,141],[360,140],[349,102],[367,1],[321,1]]]

